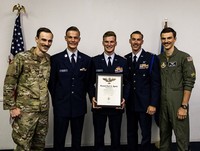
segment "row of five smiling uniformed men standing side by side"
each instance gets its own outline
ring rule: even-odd
[[[47,28],[37,31],[36,47],[19,53],[8,67],[4,81],[4,109],[14,119],[13,140],[16,151],[42,151],[48,129],[48,89],[54,113],[55,151],[65,150],[65,137],[71,126],[72,150],[81,150],[86,94],[92,104],[94,146],[104,151],[107,119],[111,150],[120,151],[121,122],[127,115],[127,150],[151,150],[152,116],[159,111],[160,150],[171,151],[174,130],[178,151],[189,148],[189,98],[195,83],[195,68],[190,55],[178,50],[176,32],[162,30],[165,51],[159,56],[142,49],[143,34],[134,31],[129,43],[132,52],[121,57],[115,53],[117,37],[113,31],[103,35],[102,54],[95,57],[78,50],[80,31],[69,27],[65,33],[67,48],[49,56],[53,41]],[[99,107],[96,98],[96,75],[122,74],[121,107]],[[141,145],[138,147],[138,123]]]

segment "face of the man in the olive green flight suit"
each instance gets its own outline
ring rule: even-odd
[[[172,32],[162,33],[161,42],[166,51],[171,50],[172,48],[174,48],[174,43],[176,42],[176,38],[174,38],[174,35]]]

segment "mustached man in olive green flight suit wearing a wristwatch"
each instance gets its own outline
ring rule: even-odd
[[[161,31],[165,51],[159,55],[161,67],[160,151],[171,151],[172,129],[177,151],[189,150],[189,99],[196,75],[192,57],[178,50],[176,32]]]

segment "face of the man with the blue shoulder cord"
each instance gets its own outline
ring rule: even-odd
[[[132,51],[137,53],[143,44],[142,35],[140,34],[132,34],[129,39],[129,43],[131,44]]]

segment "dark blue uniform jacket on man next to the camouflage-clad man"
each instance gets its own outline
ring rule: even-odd
[[[86,113],[90,65],[91,58],[79,51],[74,69],[66,50],[51,57],[49,91],[54,115],[77,117]]]

